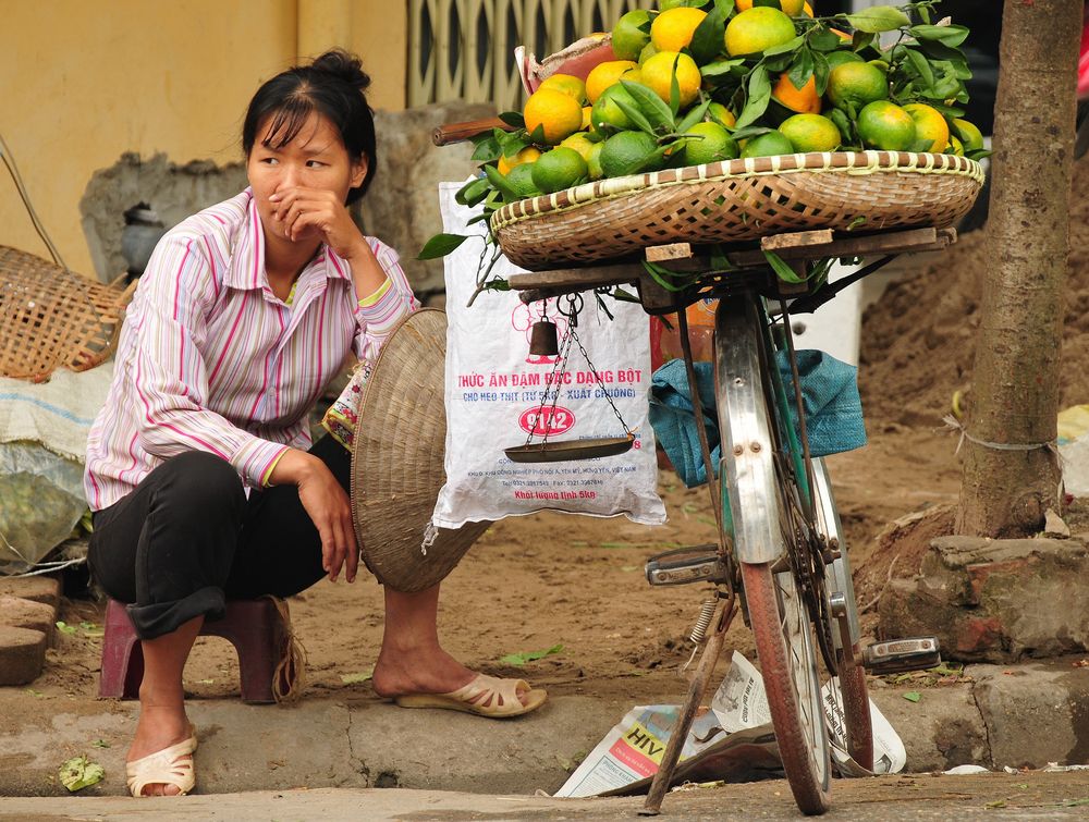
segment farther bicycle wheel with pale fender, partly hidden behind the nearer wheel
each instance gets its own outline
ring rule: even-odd
[[[851,578],[851,562],[847,559],[847,544],[840,524],[840,513],[835,507],[832,493],[832,482],[823,459],[813,461],[813,495],[816,498],[815,513],[817,527],[824,535],[829,547],[839,552],[839,557],[831,563],[829,590],[842,597],[844,617],[847,619],[847,638],[842,639],[837,626],[832,628],[835,649],[835,670],[839,674],[837,687],[831,689],[834,710],[843,719],[843,744],[846,752],[867,771],[873,770],[873,727],[870,721],[870,698],[866,688],[866,670],[861,662],[859,647],[860,630],[858,627],[858,605],[855,602],[855,586]],[[830,613],[832,609],[829,609]],[[831,614],[834,618],[834,614]],[[844,648],[844,641],[849,648]],[[849,654],[848,654],[849,652]],[[847,664],[847,657],[855,664]]]

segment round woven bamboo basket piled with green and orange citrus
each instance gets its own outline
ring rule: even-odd
[[[504,206],[491,226],[512,262],[539,271],[669,243],[941,228],[967,213],[982,183],[979,163],[954,155],[780,155],[599,180]]]

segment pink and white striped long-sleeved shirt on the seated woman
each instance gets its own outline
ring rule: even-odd
[[[109,507],[186,451],[223,457],[259,488],[289,446],[309,447],[308,412],[348,351],[374,360],[419,307],[396,253],[367,242],[388,278],[377,300],[360,305],[347,262],[322,245],[289,306],[265,275],[248,188],[171,229],[129,306],[113,383],[87,440],[90,507]]]

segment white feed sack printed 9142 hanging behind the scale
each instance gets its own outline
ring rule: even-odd
[[[650,385],[649,318],[633,303],[610,299],[614,319],[586,299],[577,335],[597,371],[572,346],[559,372],[554,413],[541,409],[541,393],[554,360],[529,355],[529,333],[541,304],[525,306],[516,292],[488,291],[466,306],[476,287],[485,228],[467,225],[477,209],[457,205],[460,183],[439,186],[443,231],[470,234],[445,258],[446,272],[446,482],[439,491],[433,524],[460,528],[537,511],[614,516],[645,525],[665,522],[658,495],[654,435],[647,420]],[[490,253],[490,249],[489,249]],[[493,272],[519,272],[505,258]],[[548,309],[566,331],[555,300]],[[621,437],[624,430],[604,396],[609,392],[635,447],[625,454],[561,463],[512,463],[503,450],[526,444],[530,431],[551,420],[550,440]],[[540,437],[535,433],[534,442]]]

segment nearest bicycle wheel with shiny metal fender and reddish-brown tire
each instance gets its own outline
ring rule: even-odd
[[[715,394],[722,437],[724,520],[734,539],[749,623],[783,769],[798,808],[829,807],[831,762],[817,672],[812,610],[792,565],[800,490],[784,466],[776,401],[768,375],[762,305],[720,300]]]

